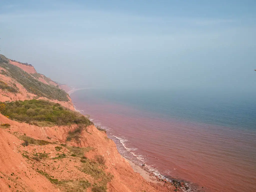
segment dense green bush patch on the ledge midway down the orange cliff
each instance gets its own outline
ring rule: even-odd
[[[46,100],[25,100],[3,103],[5,107],[1,111],[3,115],[8,115],[11,119],[40,125],[48,122],[52,125],[81,124],[83,126],[93,123],[82,114],[63,108],[58,103]],[[44,125],[43,124],[43,125]]]

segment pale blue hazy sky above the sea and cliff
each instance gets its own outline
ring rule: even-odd
[[[1,0],[0,53],[70,86],[256,90],[255,10],[255,0]]]

